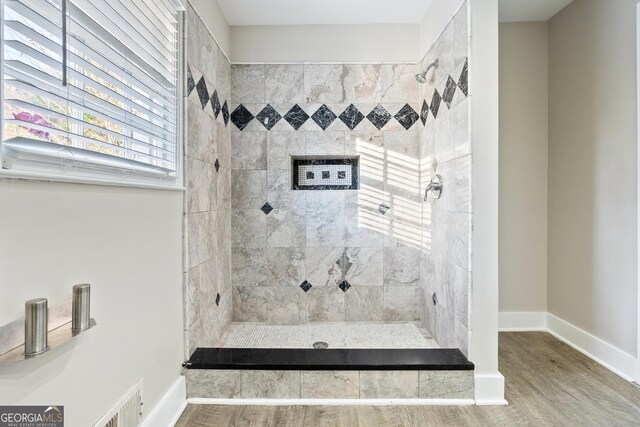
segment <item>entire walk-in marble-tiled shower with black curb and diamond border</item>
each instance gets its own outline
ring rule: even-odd
[[[185,367],[472,369],[466,7],[420,64],[211,66],[189,24]]]

